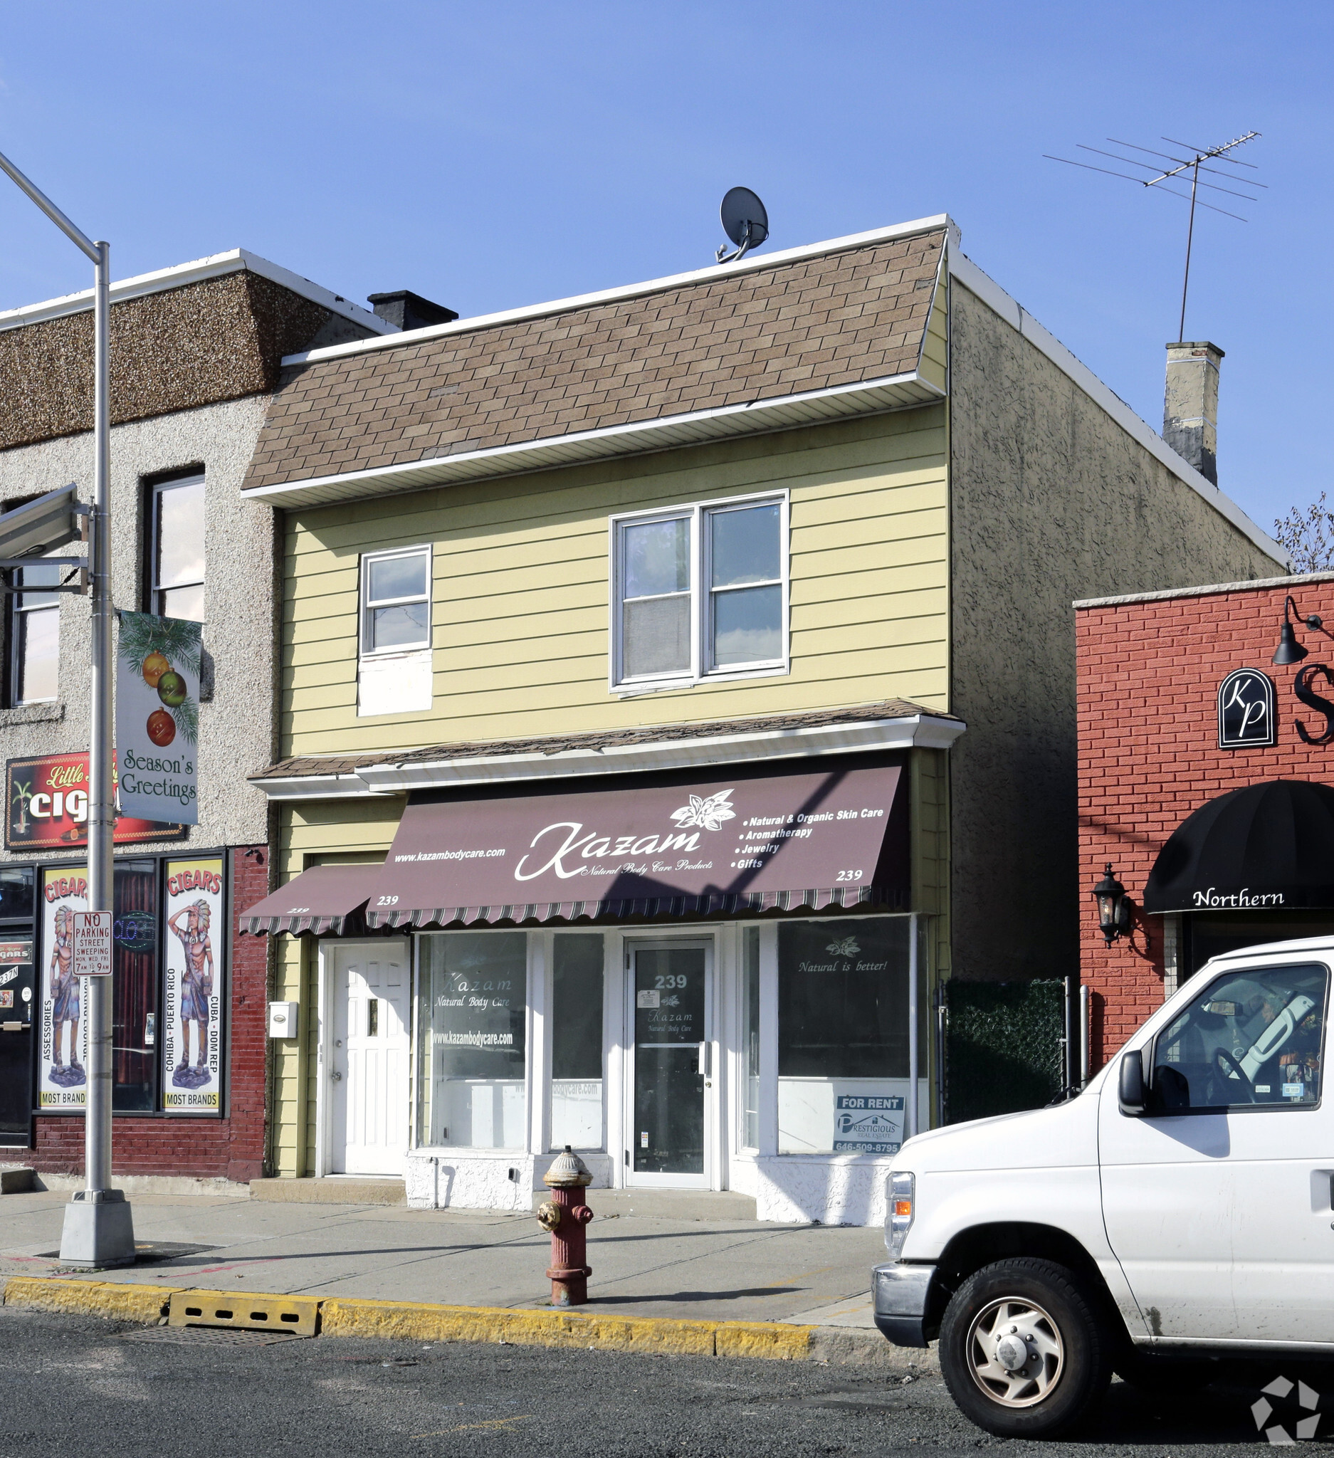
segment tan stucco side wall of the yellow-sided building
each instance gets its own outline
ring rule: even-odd
[[[951,330],[953,971],[1060,977],[1086,891],[1072,602],[1283,569],[958,283]]]

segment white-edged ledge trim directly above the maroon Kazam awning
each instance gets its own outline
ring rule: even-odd
[[[434,763],[363,765],[348,774],[306,774],[255,779],[271,800],[348,799],[363,795],[402,795],[408,790],[515,784],[525,780],[569,780],[588,774],[636,774],[647,770],[706,770],[720,764],[803,760],[867,749],[948,749],[964,733],[958,719],[930,713],[902,719],[811,725],[803,729],[757,729],[751,733],[653,744],[561,749],[555,754],[471,755]]]

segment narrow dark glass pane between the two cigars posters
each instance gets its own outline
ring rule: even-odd
[[[157,862],[118,860],[112,885],[111,1107],[149,1114],[157,1107]]]

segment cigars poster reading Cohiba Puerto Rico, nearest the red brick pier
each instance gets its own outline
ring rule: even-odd
[[[166,863],[162,986],[162,1107],[222,1110],[223,860]]]

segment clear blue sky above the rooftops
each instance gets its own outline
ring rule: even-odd
[[[1198,216],[1187,338],[1228,353],[1220,486],[1271,528],[1334,486],[1331,54],[1334,7],[1287,0],[0,0],[0,150],[117,277],[243,246],[465,315],[703,267],[736,182],[771,248],[949,211],[1158,426],[1185,204],[1042,153],[1254,128],[1268,191]],[[6,182],[0,308],[87,274]]]

